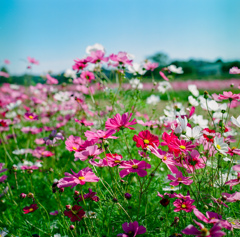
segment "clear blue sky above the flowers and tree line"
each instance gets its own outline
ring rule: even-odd
[[[239,0],[0,0],[0,66],[35,73],[70,68],[88,45],[127,51],[140,62],[155,52],[172,59],[240,59]]]

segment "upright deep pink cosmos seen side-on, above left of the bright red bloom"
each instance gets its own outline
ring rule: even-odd
[[[105,123],[106,129],[114,129],[119,131],[120,129],[129,128],[134,130],[134,128],[130,127],[131,125],[136,124],[136,119],[130,121],[132,117],[132,113],[125,113],[122,116],[120,114],[116,114],[114,118],[108,118]]]

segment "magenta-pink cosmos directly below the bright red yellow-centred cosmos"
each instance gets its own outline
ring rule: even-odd
[[[148,164],[146,161],[139,161],[133,159],[129,161],[122,161],[119,168],[123,169],[119,173],[121,178],[124,178],[130,173],[137,173],[138,176],[144,177],[147,175],[147,171],[145,169],[150,169],[151,165]]]

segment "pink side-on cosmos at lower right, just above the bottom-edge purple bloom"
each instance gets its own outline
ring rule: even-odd
[[[193,212],[199,220],[201,220],[207,224],[220,223],[223,228],[226,228],[228,230],[233,229],[232,225],[228,221],[222,220],[222,216],[215,212],[207,211],[206,217],[197,208],[195,208],[193,210]]]

